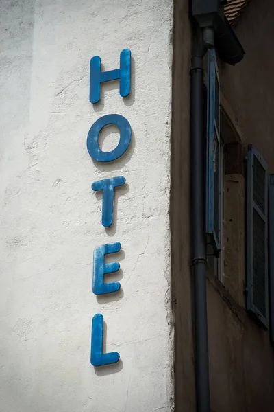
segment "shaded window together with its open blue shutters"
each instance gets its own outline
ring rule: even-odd
[[[249,145],[246,175],[242,135],[232,121],[227,102],[220,112],[220,95],[216,55],[210,50],[206,129],[208,264],[235,301],[265,329],[269,328],[270,308],[274,344],[274,174],[268,175],[266,160]]]

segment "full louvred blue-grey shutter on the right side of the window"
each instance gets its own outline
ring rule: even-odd
[[[268,174],[252,145],[247,158],[247,310],[268,328]]]

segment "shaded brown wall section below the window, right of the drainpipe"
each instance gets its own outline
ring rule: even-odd
[[[273,411],[269,333],[249,319],[216,277],[208,279],[208,326],[212,411]]]

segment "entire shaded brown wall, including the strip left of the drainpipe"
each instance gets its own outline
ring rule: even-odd
[[[251,0],[236,27],[245,58],[221,64],[221,89],[243,130],[274,172],[274,1]],[[174,10],[171,242],[175,316],[175,412],[195,412],[191,278],[188,0]],[[243,248],[244,250],[244,248]],[[274,411],[274,348],[214,275],[208,275],[210,396],[213,412]]]

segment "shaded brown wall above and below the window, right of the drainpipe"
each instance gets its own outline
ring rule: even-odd
[[[221,90],[243,130],[274,172],[274,2],[251,0],[235,31],[245,58],[219,66]],[[239,274],[234,274],[239,275]],[[214,412],[274,411],[274,347],[269,332],[223,285],[208,282],[210,391]]]

